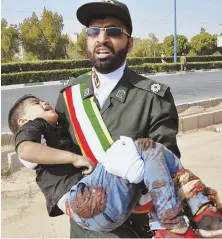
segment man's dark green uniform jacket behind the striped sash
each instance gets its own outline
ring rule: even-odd
[[[91,78],[91,74],[86,74],[69,80],[61,90],[56,104],[59,124],[66,131],[67,137],[71,136],[75,153],[80,153],[80,149],[62,92],[67,87],[84,81],[86,83],[84,100],[93,95]],[[94,99],[99,105],[97,99]],[[100,113],[114,141],[121,135],[134,140],[149,137],[164,144],[180,157],[176,141],[178,114],[168,86],[138,75],[126,67],[119,83],[100,109]]]

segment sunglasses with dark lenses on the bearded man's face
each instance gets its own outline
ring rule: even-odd
[[[101,30],[104,30],[109,37],[120,37],[122,33],[131,37],[129,33],[119,27],[89,27],[86,28],[86,34],[88,37],[97,37]]]

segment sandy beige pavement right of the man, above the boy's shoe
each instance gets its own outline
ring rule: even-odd
[[[216,127],[222,124],[180,133],[177,139],[184,167],[215,188],[222,200],[222,132],[215,132]]]

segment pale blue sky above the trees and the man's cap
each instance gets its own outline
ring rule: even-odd
[[[2,0],[1,17],[19,24],[43,8],[63,16],[64,33],[80,33],[77,8],[92,0]],[[153,32],[161,41],[174,31],[174,0],[122,0],[127,4],[133,21],[133,36],[146,38]],[[190,39],[204,27],[209,33],[222,33],[222,0],[177,0],[177,33]]]

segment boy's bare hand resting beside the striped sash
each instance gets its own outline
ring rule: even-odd
[[[76,168],[84,168],[82,170],[82,173],[84,175],[88,175],[88,174],[92,173],[92,171],[95,168],[95,165],[93,164],[93,162],[90,159],[88,159],[84,156],[81,156],[81,155],[78,155],[75,158],[75,160],[73,160],[72,164]]]

